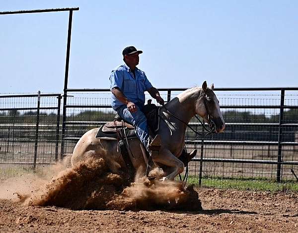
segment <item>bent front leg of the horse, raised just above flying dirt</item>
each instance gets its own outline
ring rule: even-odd
[[[158,153],[153,152],[151,155],[154,162],[173,167],[172,172],[163,177],[162,180],[174,180],[174,178],[184,170],[183,162],[180,161],[169,150],[161,148]]]

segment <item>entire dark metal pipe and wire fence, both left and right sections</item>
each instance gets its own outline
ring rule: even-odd
[[[159,90],[169,101],[184,89]],[[216,180],[297,181],[298,88],[217,88],[215,92],[226,130],[204,138],[186,131],[187,149],[198,149],[190,162],[190,177],[200,185]],[[0,96],[0,167],[34,170],[53,163],[71,154],[86,131],[113,120],[108,89],[66,89],[66,93],[63,106],[61,94],[40,94],[39,107],[38,94]],[[190,124],[203,130],[196,119]],[[9,176],[2,173],[1,177]]]

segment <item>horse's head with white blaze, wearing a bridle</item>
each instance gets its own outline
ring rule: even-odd
[[[208,87],[207,82],[204,81],[201,94],[196,103],[196,113],[204,118],[209,125],[214,122],[216,132],[222,133],[225,128],[224,118],[220,109],[219,100],[213,92],[213,89],[213,84]]]

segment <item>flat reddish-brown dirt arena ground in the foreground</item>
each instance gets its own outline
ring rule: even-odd
[[[73,211],[0,200],[0,232],[298,232],[298,193],[197,189],[203,211]]]

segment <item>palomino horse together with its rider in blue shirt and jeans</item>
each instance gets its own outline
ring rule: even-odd
[[[111,90],[114,93],[112,96],[113,108],[126,121],[135,126],[135,131],[139,138],[135,134],[130,134],[132,131],[129,128],[132,128],[132,126],[129,126],[128,123],[125,124],[127,129],[124,131],[121,128],[124,125],[123,122],[108,122],[99,128],[88,130],[74,147],[71,157],[72,165],[74,166],[79,161],[87,158],[102,158],[104,164],[113,173],[118,173],[120,170],[127,170],[130,167],[133,167],[135,170],[140,169],[140,172],[145,172],[146,165],[149,169],[150,167],[152,168],[151,165],[156,165],[163,170],[162,181],[173,180],[178,174],[183,172],[185,163],[196,152],[188,155],[190,156],[188,158],[185,156],[186,152],[183,148],[185,148],[186,129],[190,128],[196,135],[202,135],[189,125],[193,117],[199,120],[196,116],[198,115],[206,123],[211,125],[211,129],[208,130],[202,123],[202,127],[208,131],[206,135],[213,132],[224,132],[224,118],[219,100],[213,91],[214,85],[211,84],[208,87],[207,82],[204,81],[202,87],[196,86],[186,89],[164,104],[164,106],[161,106],[158,109],[158,115],[156,117],[159,120],[158,127],[154,129],[153,133],[158,136],[148,145],[149,134],[147,124],[149,123],[149,127],[151,128],[152,125],[150,122],[153,117],[149,117],[149,121],[147,121],[141,110],[145,103],[144,92],[145,90],[149,90],[152,85],[149,84],[144,72],[136,68],[139,64],[138,50],[131,48],[129,53],[124,51],[123,54],[126,63],[115,69],[111,75]],[[136,57],[133,59],[129,55]],[[129,60],[132,61],[133,66],[131,66]],[[131,68],[134,68],[134,72]],[[159,103],[163,104],[163,101],[161,101],[162,98],[155,88],[149,91]],[[145,105],[144,111],[147,112],[148,106],[152,105]],[[151,111],[149,113],[151,114]],[[142,143],[140,143],[140,140]],[[149,158],[154,164],[148,166],[149,159],[146,156],[147,153],[143,144],[148,150],[153,149],[149,153]],[[129,145],[128,150],[125,150],[125,145]],[[185,162],[183,162],[183,159],[180,160],[183,157],[183,151]],[[132,165],[129,165],[129,161]]]

